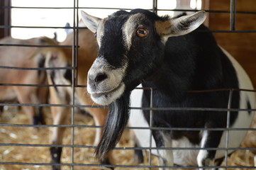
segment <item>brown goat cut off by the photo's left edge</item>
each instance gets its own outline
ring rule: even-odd
[[[0,40],[0,44],[13,45],[45,45],[46,38],[18,40],[10,37]],[[2,67],[43,67],[45,57],[31,57],[38,47],[0,47],[0,65]],[[4,84],[46,84],[45,71],[24,69],[0,69],[0,101],[1,103],[18,101],[19,103],[46,103],[48,88],[42,86],[3,86]],[[42,107],[23,106],[30,123],[44,124]]]

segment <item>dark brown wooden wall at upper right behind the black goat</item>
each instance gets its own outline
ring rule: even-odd
[[[208,1],[208,0],[206,0]],[[230,0],[210,0],[210,10],[230,11]],[[256,12],[255,0],[237,0],[237,11]],[[209,13],[211,30],[230,30],[229,13]],[[236,30],[256,30],[256,14],[236,14]],[[249,74],[256,89],[256,33],[214,33],[219,45],[235,57]]]

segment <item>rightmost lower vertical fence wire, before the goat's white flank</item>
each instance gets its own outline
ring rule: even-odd
[[[229,91],[229,97],[228,97],[228,109],[231,108],[231,103],[232,103],[232,96],[233,96],[233,89],[230,89]],[[227,132],[227,135],[226,135],[226,153],[225,153],[225,166],[227,167],[228,166],[228,138],[229,138],[229,130],[228,128],[230,128],[230,111],[228,111],[227,113],[227,125],[226,125],[226,132]],[[227,168],[225,168],[227,169]]]

